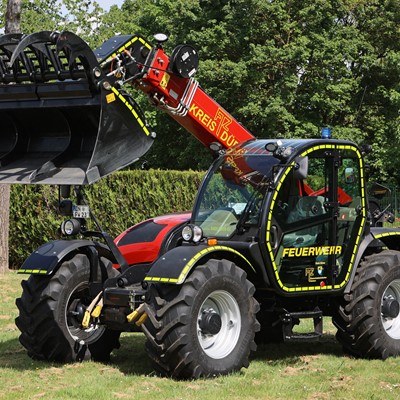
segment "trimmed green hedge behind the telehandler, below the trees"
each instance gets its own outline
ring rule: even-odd
[[[203,176],[193,171],[124,171],[87,186],[85,193],[102,228],[115,237],[147,218],[190,210]],[[64,218],[57,205],[57,186],[11,186],[11,267],[18,268],[33,250],[60,238]]]

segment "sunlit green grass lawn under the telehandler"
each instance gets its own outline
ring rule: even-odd
[[[328,319],[319,343],[260,346],[248,369],[177,382],[152,372],[141,334],[124,334],[111,364],[31,360],[18,341],[15,299],[26,276],[0,275],[0,399],[385,399],[400,398],[400,358],[349,358]]]

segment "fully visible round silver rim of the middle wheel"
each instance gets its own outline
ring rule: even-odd
[[[215,324],[214,329],[204,329],[205,316],[211,316],[208,320],[220,322],[219,329]],[[237,345],[240,330],[240,309],[235,298],[226,291],[212,292],[204,300],[197,316],[197,337],[203,351],[214,359],[228,356]]]

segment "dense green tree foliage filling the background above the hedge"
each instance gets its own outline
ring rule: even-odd
[[[309,138],[330,126],[374,145],[372,171],[399,181],[400,0],[125,0],[107,12],[91,0],[24,2],[26,32],[67,28],[93,47],[119,33],[164,32],[169,52],[190,43],[202,87],[255,136]],[[148,115],[152,167],[208,166],[176,122]]]

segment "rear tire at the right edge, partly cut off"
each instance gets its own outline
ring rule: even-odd
[[[333,323],[345,352],[362,358],[400,355],[400,252],[365,257]]]

